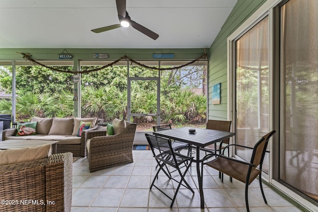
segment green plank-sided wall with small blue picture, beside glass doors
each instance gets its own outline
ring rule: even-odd
[[[238,0],[209,52],[208,119],[227,120],[227,39],[266,0]],[[221,104],[212,104],[212,86],[221,83]]]

